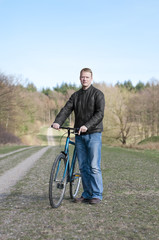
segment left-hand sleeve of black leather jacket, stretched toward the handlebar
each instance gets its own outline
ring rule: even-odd
[[[61,111],[57,114],[54,123],[58,123],[60,126],[62,126],[62,124],[69,117],[72,111],[73,111],[73,95],[66,102],[65,106],[61,109]]]

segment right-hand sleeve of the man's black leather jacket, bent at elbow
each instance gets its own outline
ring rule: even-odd
[[[94,114],[88,122],[85,123],[85,126],[89,129],[96,127],[104,117],[104,108],[105,108],[105,98],[102,92],[98,92],[95,99],[95,109]]]

